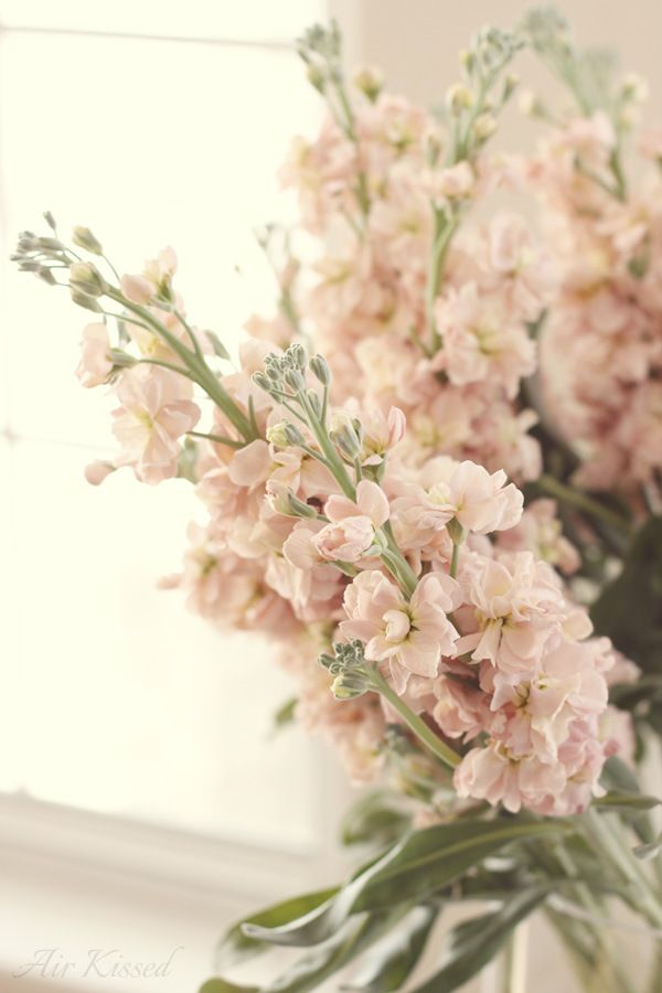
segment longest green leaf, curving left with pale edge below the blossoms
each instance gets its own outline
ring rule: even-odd
[[[559,820],[503,819],[462,821],[415,831],[359,872],[317,910],[282,927],[246,923],[244,933],[273,944],[318,944],[334,935],[352,914],[391,908],[404,900],[425,900],[511,842],[567,830]]]

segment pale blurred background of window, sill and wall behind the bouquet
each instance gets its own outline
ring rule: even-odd
[[[1,991],[136,989],[81,975],[97,948],[116,950],[108,965],[169,961],[141,991],[194,991],[233,917],[333,879],[346,794],[323,748],[273,733],[290,690],[268,645],[221,638],[156,588],[179,567],[190,487],[84,481],[113,449],[109,402],[73,377],[84,314],[6,261],[17,233],[51,210],[128,271],[172,244],[194,322],[232,344],[274,306],[252,232],[291,216],[277,168],[320,118],[293,38],[337,17],[348,63],[436,103],[469,35],[527,6],[0,0]],[[659,117],[656,0],[559,6],[648,78]],[[520,73],[553,90],[526,57]],[[534,139],[513,110],[498,140]]]

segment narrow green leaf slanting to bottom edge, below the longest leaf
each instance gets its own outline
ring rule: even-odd
[[[513,928],[542,904],[551,888],[538,886],[520,893],[499,910],[453,928],[444,965],[427,982],[416,986],[413,993],[451,993],[468,982],[494,958]]]

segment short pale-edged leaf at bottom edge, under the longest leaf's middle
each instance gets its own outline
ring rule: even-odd
[[[438,907],[416,907],[403,922],[394,938],[374,949],[362,964],[360,973],[342,990],[362,993],[392,993],[402,990],[425,948],[439,914]]]

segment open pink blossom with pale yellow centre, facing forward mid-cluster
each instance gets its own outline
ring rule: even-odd
[[[458,632],[448,613],[459,604],[459,586],[444,574],[428,574],[407,601],[378,572],[360,573],[348,586],[340,628],[365,642],[365,658],[389,661],[397,693],[410,673],[435,676],[442,654],[451,654]]]

